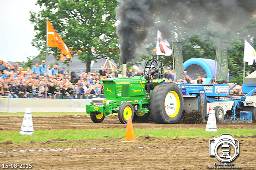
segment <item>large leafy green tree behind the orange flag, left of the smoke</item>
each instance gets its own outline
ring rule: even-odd
[[[30,12],[30,21],[36,32],[32,44],[39,50],[46,51],[48,19],[65,44],[72,47],[71,52],[77,52],[78,59],[86,63],[87,72],[90,71],[92,60],[97,62],[100,58],[117,58],[117,0],[38,0],[36,4],[43,9],[38,13]],[[50,52],[60,58],[58,48],[50,47]]]

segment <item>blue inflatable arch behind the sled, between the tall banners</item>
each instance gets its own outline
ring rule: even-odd
[[[191,77],[192,80],[197,79],[198,76],[206,78],[204,84],[208,84],[214,77],[215,60],[206,58],[190,58],[184,62],[184,70]]]

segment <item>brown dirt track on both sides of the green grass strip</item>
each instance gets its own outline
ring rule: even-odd
[[[0,132],[19,131],[22,118],[0,116]],[[116,115],[106,116],[101,124],[95,124],[89,116],[33,116],[34,130],[77,129],[125,129]],[[140,128],[205,128],[205,124],[155,124],[133,123]],[[218,128],[255,129],[256,124],[218,124]],[[256,169],[255,136],[233,136],[240,142],[239,156],[235,166]],[[207,169],[221,163],[209,156],[210,138],[159,139],[151,136],[136,136],[140,142],[120,142],[123,139],[100,139],[68,141],[49,139],[45,142],[0,144],[0,167],[2,164],[32,164],[34,170],[85,170],[85,169]],[[54,147],[66,143],[69,147]],[[49,146],[51,145],[51,146]],[[68,146],[68,145],[65,145]],[[65,150],[66,149],[66,150]],[[9,152],[8,152],[9,151]],[[2,168],[5,169],[5,168]],[[9,168],[13,169],[13,168]],[[17,168],[19,169],[19,168]],[[26,169],[26,168],[25,168]]]

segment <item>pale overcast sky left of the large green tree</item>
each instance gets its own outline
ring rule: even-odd
[[[40,11],[36,0],[0,0],[0,60],[22,62],[39,51],[31,45],[35,32],[29,11]]]

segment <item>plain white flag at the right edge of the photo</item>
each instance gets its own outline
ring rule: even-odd
[[[251,66],[253,60],[256,62],[256,51],[246,40],[244,40],[244,62],[248,62],[248,66]]]

